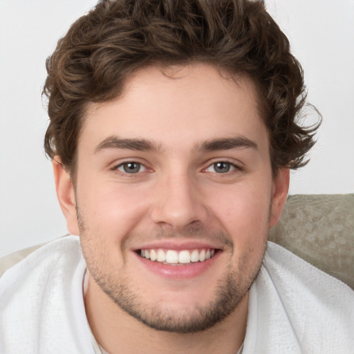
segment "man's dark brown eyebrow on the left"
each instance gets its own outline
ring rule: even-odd
[[[158,147],[145,139],[121,139],[117,136],[109,136],[97,145],[95,153],[104,149],[129,149],[136,151],[157,151]]]

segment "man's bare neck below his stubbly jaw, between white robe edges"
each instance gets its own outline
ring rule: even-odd
[[[248,293],[222,322],[197,333],[154,330],[131,317],[89,280],[85,297],[88,323],[97,342],[110,354],[118,353],[236,353],[245,338]]]

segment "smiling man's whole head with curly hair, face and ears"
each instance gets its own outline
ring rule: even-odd
[[[301,66],[263,2],[100,1],[47,70],[46,153],[93,287],[160,330],[232,314],[261,267],[288,169],[313,145],[298,124]],[[193,262],[194,250],[214,257]]]

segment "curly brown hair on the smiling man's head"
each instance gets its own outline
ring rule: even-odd
[[[188,62],[249,77],[268,127],[273,173],[306,164],[319,122],[299,124],[306,102],[303,71],[263,1],[252,0],[99,1],[47,59],[47,155],[60,156],[73,174],[88,102],[118,97],[138,68]]]

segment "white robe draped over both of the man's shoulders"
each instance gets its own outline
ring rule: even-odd
[[[36,250],[0,278],[0,354],[94,354],[77,236]],[[354,292],[268,243],[250,289],[242,354],[353,354]]]

